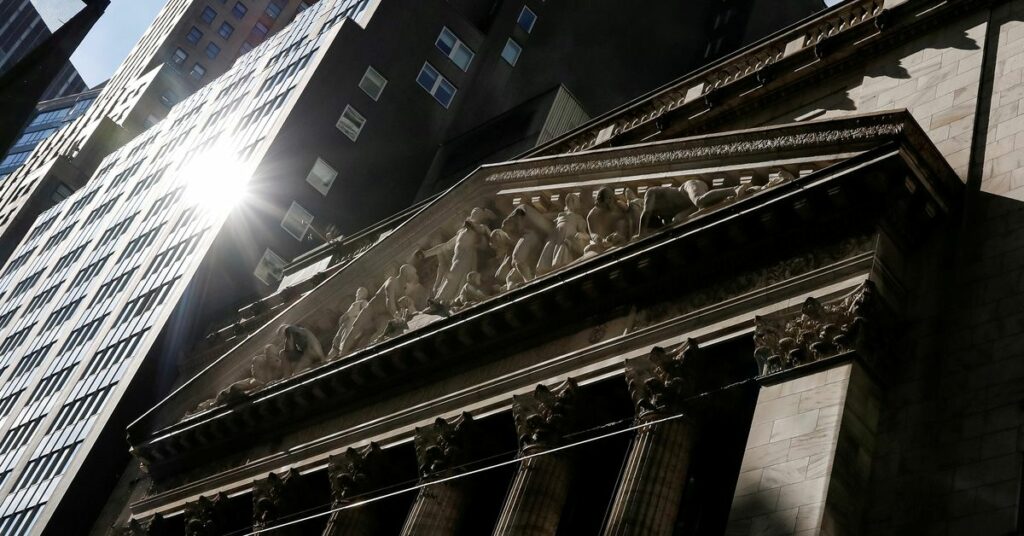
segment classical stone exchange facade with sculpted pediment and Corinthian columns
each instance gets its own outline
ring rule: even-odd
[[[1022,72],[1024,1],[851,0],[322,248],[114,531],[1020,530]]]

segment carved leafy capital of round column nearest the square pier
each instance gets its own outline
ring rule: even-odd
[[[636,408],[637,418],[683,411],[695,397],[700,349],[693,339],[686,339],[675,351],[654,346],[650,354],[626,361],[626,384]]]

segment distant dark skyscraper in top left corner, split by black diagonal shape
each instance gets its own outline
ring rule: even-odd
[[[50,37],[32,0],[0,0],[0,73]],[[87,89],[75,66],[68,61],[43,93],[42,100],[80,93]]]

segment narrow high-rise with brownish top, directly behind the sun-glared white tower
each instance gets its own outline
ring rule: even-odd
[[[0,183],[0,259],[52,205],[52,191],[80,188],[103,157],[165,117],[175,102],[222,74],[308,3],[168,1],[88,113],[37,147]]]

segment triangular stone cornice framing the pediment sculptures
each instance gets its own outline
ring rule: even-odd
[[[152,438],[135,441],[136,451],[142,459],[159,469],[169,462],[176,463],[175,460],[180,456],[198,455],[209,446],[228,441],[228,438],[237,434],[260,434],[259,430],[264,428],[276,429],[278,426],[288,425],[288,416],[292,412],[299,411],[309,416],[330,411],[346,401],[355,400],[353,397],[357,397],[359,393],[372,391],[382,381],[393,384],[396,378],[406,377],[415,371],[430,368],[438,370],[436,367],[443,367],[445,363],[458,363],[470,357],[478,361],[497,359],[500,352],[496,348],[503,344],[503,337],[508,334],[527,336],[532,329],[530,326],[558,322],[561,316],[577,312],[575,304],[580,299],[599,307],[608,296],[656,292],[656,287],[649,285],[662,281],[665,274],[672,272],[678,272],[682,278],[674,285],[690,288],[690,280],[683,274],[700,266],[700,263],[693,262],[694,258],[714,258],[728,252],[730,247],[742,248],[746,247],[743,244],[755,242],[767,246],[769,243],[764,242],[767,237],[781,233],[791,225],[813,225],[815,218],[831,217],[829,212],[835,211],[838,206],[861,206],[861,203],[866,202],[867,204],[862,205],[864,210],[858,216],[866,223],[885,217],[882,210],[884,204],[878,203],[879,196],[892,202],[912,196],[915,199],[913,206],[919,207],[920,211],[903,216],[928,220],[946,211],[959,184],[951,171],[943,168],[934,148],[924,139],[916,126],[907,122],[907,116],[884,114],[721,134],[570,158],[577,162],[566,162],[565,159],[530,162],[534,172],[528,173],[528,178],[519,178],[515,184],[515,179],[503,176],[496,187],[506,192],[519,189],[520,192],[538,192],[541,195],[545,183],[565,183],[566,178],[571,177],[573,189],[579,190],[581,183],[592,179],[599,181],[600,185],[591,188],[599,191],[607,185],[607,180],[613,173],[644,176],[645,180],[650,180],[652,173],[669,172],[685,176],[688,172],[686,168],[693,170],[713,167],[708,165],[709,160],[715,160],[721,166],[731,165],[735,175],[741,176],[744,166],[755,170],[770,169],[770,162],[777,160],[766,158],[769,155],[790,158],[796,153],[804,155],[807,165],[815,161],[834,164],[804,176],[800,176],[798,169],[787,182],[757,197],[740,200],[718,211],[709,211],[702,217],[668,224],[650,236],[611,248],[591,259],[577,261],[562,272],[552,274],[553,277],[539,277],[526,285],[507,291],[503,296],[451,317],[435,319],[432,324],[419,331],[359,349],[349,357],[299,373],[292,379],[266,382],[265,386],[252,395],[224,401],[231,402],[229,408],[214,406],[179,424],[170,424]],[[901,151],[901,147],[905,151]],[[732,159],[725,156],[728,154],[726,148],[734,151]],[[673,170],[671,160],[663,160],[659,156],[666,153],[677,157],[688,154],[693,160],[679,162],[676,164],[677,169]],[[629,160],[627,156],[630,154],[635,158]],[[901,155],[912,155],[914,166],[908,168],[903,160],[905,156]],[[577,168],[578,172],[566,171],[564,166]],[[878,166],[883,167],[876,169]],[[406,254],[424,251],[422,244],[425,239],[419,230],[429,229],[434,221],[442,220],[445,215],[451,217],[456,206],[476,205],[482,198],[474,198],[471,195],[474,192],[479,194],[483,190],[489,193],[489,199],[496,199],[499,190],[488,185],[496,176],[528,169],[529,166],[521,162],[497,169],[485,168],[480,171],[483,177],[471,176],[449,196],[425,208],[408,225],[395,231],[388,240],[364,253],[345,271],[329,278],[279,317],[275,322],[292,326],[284,328],[284,338],[279,349],[295,357],[295,363],[305,360],[312,365],[328,358],[329,353],[324,348],[329,347],[329,343],[321,342],[319,352],[316,352],[315,344],[312,343],[317,337],[323,341],[323,334],[317,335],[315,331],[324,328],[315,325],[305,327],[300,324],[306,322],[304,319],[323,319],[323,303],[331,303],[338,296],[350,292],[353,286],[359,284],[356,279],[359,274],[367,274],[368,270],[374,270],[373,266],[402,258]],[[888,171],[883,173],[883,169]],[[922,169],[928,171],[920,174],[914,171]],[[764,173],[764,176],[768,174]],[[908,184],[913,184],[913,188],[908,188]],[[511,204],[513,195],[525,194],[510,192],[504,198]],[[563,194],[549,191],[544,195]],[[877,223],[869,223],[867,228],[874,224]],[[905,225],[906,229],[921,226]],[[443,236],[439,238],[442,239]],[[431,239],[426,237],[426,240]],[[292,333],[290,340],[289,331]],[[268,340],[266,337],[272,340],[274,336],[269,330],[261,333],[264,337],[262,340]],[[245,347],[266,344],[260,340],[260,336],[257,334],[236,352],[222,358],[211,367],[206,378],[201,376],[194,380],[196,385],[186,385],[185,391],[190,389],[191,393],[190,400],[199,399],[196,394],[202,391],[199,386],[201,381],[206,380],[206,385],[216,386],[215,382],[209,380],[220,375],[216,372],[218,368],[229,370],[223,367],[231,363],[236,367],[242,364],[251,367],[251,360],[243,361],[240,358],[252,356]],[[264,353],[263,356],[267,354]],[[164,417],[168,421],[173,418],[173,411],[170,410],[174,404],[181,411],[188,409],[184,398],[180,403],[174,403],[172,397],[170,402],[166,408],[168,413]]]

